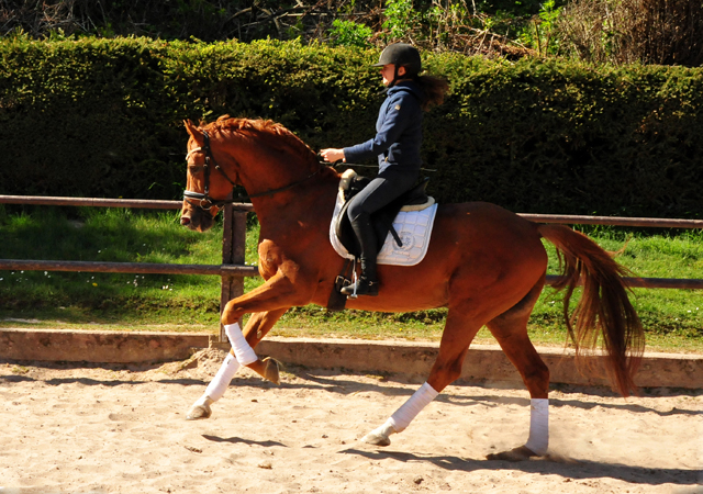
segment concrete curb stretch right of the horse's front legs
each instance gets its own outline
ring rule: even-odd
[[[312,368],[345,368],[356,372],[403,374],[426,379],[439,345],[410,341],[320,340],[271,338],[261,341],[257,352],[281,362]],[[537,348],[550,372],[553,383],[610,385],[603,358],[588,359],[577,368],[573,352],[557,348]],[[498,345],[471,345],[461,369],[465,382],[522,383],[522,378]],[[647,353],[635,382],[641,388],[703,389],[703,356]]]

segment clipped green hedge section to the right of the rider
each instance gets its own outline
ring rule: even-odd
[[[461,60],[459,75],[458,61],[444,65],[454,96],[428,144],[442,164],[440,197],[543,213],[700,215],[684,183],[702,178],[689,134],[701,70]]]

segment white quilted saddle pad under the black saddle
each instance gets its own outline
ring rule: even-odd
[[[330,242],[339,256],[345,259],[354,259],[354,256],[342,245],[335,232],[343,205],[344,195],[339,191],[334,206],[334,214],[332,215],[332,223],[330,224]],[[421,211],[401,211],[398,213],[393,221],[393,228],[398,232],[403,245],[399,247],[393,236],[389,233],[383,247],[378,252],[377,262],[379,265],[414,266],[422,261],[427,254],[436,213],[437,204]]]

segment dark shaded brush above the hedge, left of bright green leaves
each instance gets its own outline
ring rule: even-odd
[[[248,42],[286,38],[299,21],[316,24],[326,14],[328,10],[316,8],[315,2],[275,0],[9,0],[0,4],[0,34],[21,30],[37,38],[62,32],[67,36],[194,37],[205,42],[236,37]]]

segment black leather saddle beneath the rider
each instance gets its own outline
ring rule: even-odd
[[[360,247],[356,239],[356,235],[352,229],[352,222],[347,216],[347,207],[349,200],[359,193],[371,181],[368,177],[360,177],[354,170],[346,170],[342,175],[339,181],[339,190],[344,194],[344,205],[335,225],[335,233],[342,245],[355,258],[358,258]],[[422,211],[432,206],[435,200],[427,195],[426,188],[429,178],[425,177],[417,186],[400,195],[398,199],[377,211],[371,215],[371,224],[376,229],[376,238],[378,239],[377,248],[380,250],[386,242],[386,237],[390,233],[399,247],[403,246],[398,232],[393,228],[393,220],[401,211]]]

